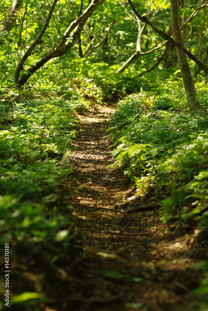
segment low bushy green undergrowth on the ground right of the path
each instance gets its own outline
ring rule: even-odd
[[[170,104],[171,103],[171,104]],[[172,105],[172,109],[164,110]],[[136,184],[138,195],[151,192],[160,201],[161,220],[193,218],[207,228],[207,117],[197,117],[178,105],[178,98],[130,95],[111,119],[112,151]]]

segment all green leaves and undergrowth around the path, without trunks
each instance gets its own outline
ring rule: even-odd
[[[70,22],[79,15],[80,5],[80,0],[58,1],[43,43],[30,54],[21,75],[58,45]],[[82,11],[88,5],[89,1],[84,0]],[[140,1],[135,5],[141,15],[146,14],[146,5],[152,9],[153,23],[168,32],[169,3]],[[186,18],[197,3],[191,5],[191,9],[181,10]],[[11,1],[0,1],[1,24],[10,7]],[[11,259],[15,262],[12,281],[19,286],[11,303],[14,308],[18,303],[19,309],[26,309],[28,299],[37,297],[41,289],[51,289],[51,283],[54,292],[73,291],[71,281],[66,285],[54,264],[58,260],[60,266],[63,257],[66,262],[74,237],[74,223],[68,211],[72,192],[76,190],[68,189],[66,194],[60,185],[72,172],[68,154],[73,150],[71,140],[76,135],[76,118],[72,114],[86,110],[92,103],[112,102],[139,93],[121,100],[111,119],[109,132],[115,146],[112,152],[115,162],[109,167],[122,165],[141,197],[155,195],[164,222],[180,217],[186,222],[197,220],[200,228],[208,228],[208,118],[196,118],[189,112],[180,71],[171,56],[168,66],[161,63],[155,71],[137,77],[157,62],[165,46],[137,59],[122,74],[117,73],[136,51],[138,34],[137,22],[117,1],[106,0],[99,5],[81,32],[84,54],[90,42],[96,45],[104,38],[115,19],[105,44],[85,59],[81,58],[75,40],[67,54],[51,59],[32,75],[21,89],[20,103],[7,107],[8,100],[17,92],[14,74],[19,59],[39,34],[48,12],[47,3],[25,2],[15,12],[10,34],[0,33],[0,39],[5,41],[0,45],[0,210],[4,216],[0,220],[0,246],[3,248],[5,241],[12,246]],[[204,14],[201,10],[191,21],[187,43],[188,49],[206,63],[208,28]],[[141,38],[142,52],[159,43],[161,38],[146,27]],[[202,82],[205,75],[193,62],[190,65],[197,98],[206,107],[207,87]],[[22,258],[31,247],[42,245],[52,228],[56,228],[55,233],[28,265],[27,259]],[[47,278],[46,269],[50,275]],[[114,270],[105,276],[129,277]]]

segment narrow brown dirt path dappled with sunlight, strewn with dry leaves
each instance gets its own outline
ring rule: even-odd
[[[113,163],[105,130],[114,110],[103,105],[76,115],[82,131],[73,141],[71,156],[79,190],[71,210],[77,252],[70,274],[81,284],[75,285],[80,299],[72,310],[186,309],[197,285],[198,272],[190,269],[199,251],[199,232],[173,222],[163,225],[157,210],[124,216],[122,212],[139,206],[141,198],[135,199],[135,187],[119,167],[106,168]]]

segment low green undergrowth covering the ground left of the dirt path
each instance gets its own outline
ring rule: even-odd
[[[69,154],[77,120],[71,113],[80,106],[78,100],[73,105],[73,97],[22,100],[13,109],[1,106],[0,248],[3,253],[4,243],[10,243],[10,263],[16,265],[12,283],[18,284],[11,305],[18,304],[20,309],[26,308],[34,295],[39,297],[37,292],[50,289],[48,279],[32,279],[36,268],[33,271],[30,267],[30,293],[25,292],[22,271],[28,270],[30,252],[38,273],[44,275],[50,267],[55,276],[54,254],[58,254],[59,248],[64,251],[69,247],[74,237],[74,222],[68,212],[70,206],[66,205],[74,190],[68,189],[67,196],[61,194],[60,184],[72,172]]]

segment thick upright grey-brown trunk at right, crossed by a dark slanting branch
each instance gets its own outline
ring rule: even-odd
[[[170,0],[171,3],[171,24],[173,29],[174,39],[181,44],[183,43],[183,36],[180,26],[180,8],[178,0]],[[206,111],[201,107],[198,100],[196,100],[196,89],[193,82],[191,69],[188,63],[186,54],[184,54],[180,49],[177,49],[178,63],[181,69],[181,74],[183,78],[183,83],[186,91],[187,101],[190,110],[195,111],[197,114],[206,114]]]

